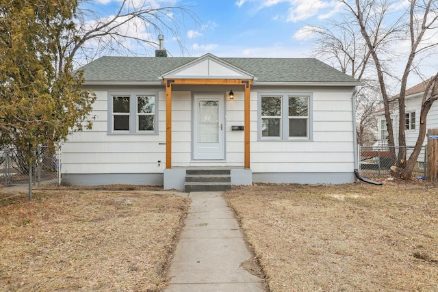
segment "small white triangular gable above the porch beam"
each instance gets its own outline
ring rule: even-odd
[[[253,75],[245,72],[244,70],[233,66],[232,64],[225,62],[218,57],[207,54],[194,59],[188,64],[184,64],[179,68],[175,68],[170,72],[162,75],[164,79],[172,78],[204,78],[204,79],[217,79],[217,78],[233,78],[233,79],[253,79]]]

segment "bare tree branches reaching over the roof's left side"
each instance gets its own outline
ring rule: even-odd
[[[75,59],[79,66],[102,55],[149,55],[148,49],[158,46],[159,34],[177,40],[184,52],[181,35],[186,23],[199,23],[187,6],[160,7],[155,1],[123,0],[110,15],[99,11],[95,0],[79,1],[76,29],[59,38],[60,70],[66,58]]]

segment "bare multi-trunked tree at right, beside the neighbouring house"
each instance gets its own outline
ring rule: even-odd
[[[398,124],[400,125],[398,145],[401,147],[398,155],[395,150],[391,150],[391,157],[398,167],[398,171],[394,174],[409,179],[424,141],[428,110],[436,99],[437,78],[428,79],[427,90],[420,109],[420,133],[409,159],[407,159],[406,148],[403,147],[406,146],[405,129],[402,127],[405,118],[404,98],[410,73],[419,72],[419,66],[424,61],[424,57],[434,53],[438,47],[437,42],[432,41],[432,37],[438,34],[438,3],[434,0],[410,0],[407,7],[403,6],[404,2],[394,0],[355,0],[353,2],[339,0],[339,3],[344,6],[346,14],[343,14],[341,21],[334,22],[333,28],[342,30],[342,34],[335,35],[332,32],[335,29],[332,30],[331,27],[320,30],[322,40],[324,38],[327,40],[322,42],[320,49],[324,48],[324,52],[329,50],[332,59],[340,65],[338,67],[348,72],[346,69],[349,66],[350,74],[359,80],[363,80],[360,72],[374,70],[385,109],[389,146],[395,145],[394,127],[389,107],[390,84],[394,79],[400,81],[397,101]],[[400,13],[397,15],[395,11]],[[352,34],[361,37],[354,37]],[[360,49],[357,49],[358,44]],[[408,47],[407,52],[398,54],[398,49],[403,46]],[[351,51],[355,53],[351,54]],[[402,74],[397,76],[392,64],[400,60],[404,65]],[[360,68],[365,69],[363,71],[355,69],[353,64],[360,64]],[[394,148],[391,147],[391,149]]]

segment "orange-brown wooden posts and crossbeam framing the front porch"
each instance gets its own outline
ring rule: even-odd
[[[172,85],[244,86],[244,168],[250,168],[250,89],[251,79],[164,79],[166,85],[166,168],[172,168]]]

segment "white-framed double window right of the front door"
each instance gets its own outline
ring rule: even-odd
[[[311,139],[310,94],[261,94],[259,137],[274,140]]]

